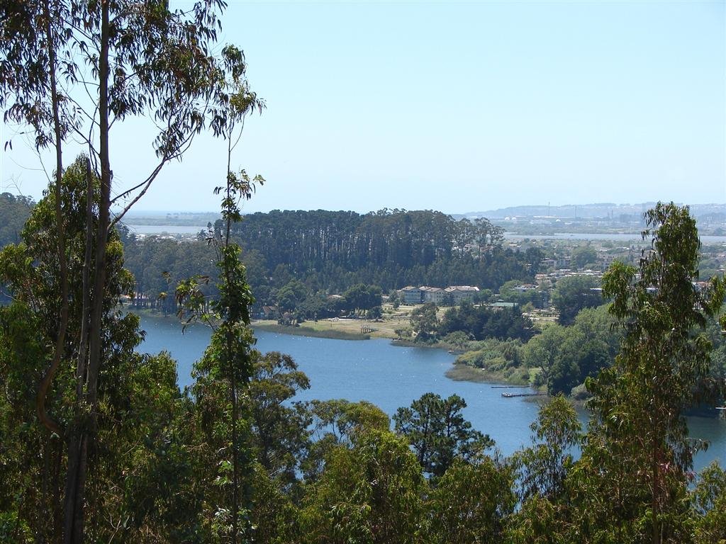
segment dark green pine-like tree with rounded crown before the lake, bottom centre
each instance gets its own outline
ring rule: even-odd
[[[471,428],[463,408],[466,403],[457,395],[442,399],[426,393],[393,416],[396,432],[407,438],[425,472],[441,476],[454,459],[469,460],[494,445],[488,434]]]

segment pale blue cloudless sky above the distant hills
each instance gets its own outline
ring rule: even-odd
[[[223,25],[267,104],[232,157],[266,179],[246,212],[726,202],[724,1],[229,0]],[[0,191],[40,197],[0,130]],[[113,129],[117,192],[152,138]],[[218,210],[225,149],[197,137],[135,210]]]

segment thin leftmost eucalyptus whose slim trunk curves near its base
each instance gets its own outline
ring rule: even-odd
[[[69,45],[72,29],[69,5],[61,1],[0,2],[0,109],[5,123],[28,125],[38,152],[54,148],[54,221],[61,305],[54,355],[41,380],[36,400],[38,418],[57,435],[62,431],[46,413],[46,395],[63,355],[68,329],[68,257],[62,210],[63,141],[78,125],[68,96],[59,89],[61,74],[76,81],[76,64]],[[4,142],[12,149],[12,140]]]

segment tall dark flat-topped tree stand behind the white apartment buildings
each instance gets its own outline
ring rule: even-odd
[[[268,277],[287,273],[330,292],[358,283],[386,292],[407,285],[497,289],[510,279],[531,281],[542,260],[539,250],[502,248],[502,231],[489,221],[433,211],[275,210],[245,215],[234,234]]]

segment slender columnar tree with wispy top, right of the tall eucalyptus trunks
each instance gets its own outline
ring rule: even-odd
[[[201,405],[214,395],[218,387],[227,387],[228,403],[211,399],[223,414],[229,413],[229,436],[227,429],[220,429],[219,420],[209,420],[213,426],[211,434],[216,434],[224,454],[221,466],[231,467],[231,474],[220,474],[225,486],[231,493],[222,493],[216,505],[214,516],[221,520],[219,535],[233,544],[245,535],[250,527],[245,527],[251,511],[250,485],[242,477],[242,467],[251,469],[253,458],[249,430],[252,424],[249,403],[242,398],[253,375],[252,346],[255,339],[250,329],[250,307],[254,302],[246,279],[245,265],[240,258],[242,249],[232,241],[232,224],[242,220],[240,203],[252,197],[256,186],[264,184],[262,176],[250,177],[245,170],[232,170],[232,152],[242,136],[245,118],[254,110],[264,108],[264,101],[250,90],[245,77],[245,58],[242,51],[234,46],[226,46],[221,56],[222,78],[213,109],[212,126],[214,132],[227,142],[227,182],[217,186],[215,194],[222,195],[222,229],[211,231],[208,242],[217,252],[219,270],[219,298],[211,302],[211,312],[203,294],[199,291],[200,278],[182,281],[176,291],[177,300],[185,302],[191,310],[191,318],[200,318],[213,329],[211,342],[205,355],[195,366],[197,384],[195,393]],[[202,283],[208,279],[202,279]],[[183,310],[182,310],[183,312]],[[209,397],[209,398],[205,398]],[[226,421],[225,421],[226,422]],[[224,426],[223,426],[224,427]],[[219,523],[218,523],[219,525]]]

